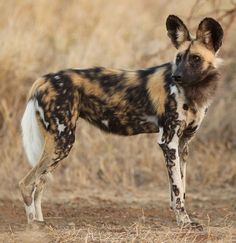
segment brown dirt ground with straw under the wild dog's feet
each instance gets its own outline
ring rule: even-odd
[[[29,229],[19,199],[0,200],[1,242],[233,242],[236,193],[214,189],[189,193],[187,208],[203,231],[179,229],[167,192],[49,192],[47,226]],[[76,195],[74,192],[73,195]]]

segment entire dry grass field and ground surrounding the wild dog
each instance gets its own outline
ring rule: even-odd
[[[169,14],[225,30],[216,98],[190,147],[186,206],[202,232],[176,227],[155,135],[107,135],[80,120],[47,186],[50,225],[26,228],[18,181],[30,169],[20,119],[34,80],[68,67],[146,68],[173,58]],[[0,242],[236,241],[236,2],[0,0]]]

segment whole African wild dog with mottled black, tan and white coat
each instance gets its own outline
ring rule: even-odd
[[[23,143],[33,168],[19,184],[28,223],[43,221],[47,174],[69,154],[81,117],[109,133],[157,133],[177,223],[199,227],[184,206],[186,157],[216,91],[216,53],[223,30],[214,19],[205,18],[193,38],[174,15],[167,18],[166,27],[177,48],[173,62],[138,71],[67,69],[34,83],[22,119]]]

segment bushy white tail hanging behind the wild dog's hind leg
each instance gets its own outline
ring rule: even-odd
[[[30,100],[26,106],[22,121],[23,145],[29,163],[35,166],[43,152],[44,138],[40,133],[36,117],[36,102]]]

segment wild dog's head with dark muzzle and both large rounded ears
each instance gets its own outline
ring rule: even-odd
[[[203,19],[193,38],[185,24],[177,16],[166,21],[168,36],[177,48],[172,78],[182,86],[194,86],[216,74],[217,52],[222,44],[223,29],[212,19]]]

